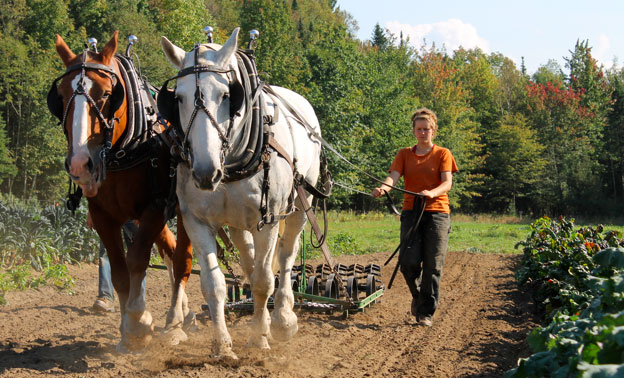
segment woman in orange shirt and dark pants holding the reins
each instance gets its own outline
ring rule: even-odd
[[[412,293],[411,313],[419,325],[428,327],[433,324],[433,314],[438,307],[440,277],[451,231],[447,193],[453,185],[453,173],[457,172],[451,151],[433,144],[437,121],[431,110],[416,110],[412,115],[412,131],[418,143],[397,153],[389,169],[390,175],[371,193],[373,197],[380,197],[403,176],[405,190],[425,199],[419,226],[408,235],[418,222],[420,209],[414,209],[414,195],[404,195],[399,264]]]

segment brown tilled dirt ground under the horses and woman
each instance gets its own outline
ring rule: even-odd
[[[388,253],[338,262],[383,264]],[[402,276],[381,303],[341,320],[341,314],[298,312],[299,332],[270,351],[245,347],[250,316],[230,315],[239,360],[210,357],[211,326],[200,324],[189,341],[168,347],[154,338],[141,354],[119,355],[119,312],[91,310],[97,266],[70,268],[75,294],[52,288],[14,292],[0,307],[0,376],[68,375],[201,377],[500,377],[529,354],[526,334],[536,326],[529,296],[513,281],[519,256],[449,252],[441,303],[431,328],[416,327]],[[393,267],[385,267],[387,284]],[[204,303],[192,276],[191,308]],[[169,304],[166,272],[150,270],[148,309],[156,333]]]

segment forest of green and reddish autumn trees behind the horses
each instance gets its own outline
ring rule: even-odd
[[[175,74],[162,35],[190,50],[215,28],[223,43],[242,27],[260,31],[263,80],[293,89],[314,106],[324,137],[361,169],[384,178],[396,152],[415,141],[410,115],[438,115],[435,143],[460,168],[452,207],[463,213],[583,215],[624,213],[624,70],[605,69],[587,41],[572,41],[529,75],[523,65],[478,48],[410,47],[377,25],[370,40],[335,0],[0,0],[0,191],[5,198],[63,202],[66,141],[45,98],[64,67],[60,34],[75,51],[134,34],[135,62],[159,87]],[[365,192],[361,172],[328,154],[334,179]],[[395,200],[400,193],[393,192]],[[334,209],[378,210],[380,201],[338,187]]]

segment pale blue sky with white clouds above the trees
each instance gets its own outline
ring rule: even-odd
[[[361,40],[370,39],[376,23],[397,37],[410,36],[420,47],[444,44],[499,52],[529,73],[556,60],[565,70],[577,39],[589,40],[592,55],[606,67],[624,62],[624,0],[338,0],[357,21]]]

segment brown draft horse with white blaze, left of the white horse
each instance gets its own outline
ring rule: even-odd
[[[170,188],[175,187],[171,186],[175,177],[169,174],[169,148],[155,143],[163,127],[150,125],[147,134],[138,136],[139,142],[129,135],[129,129],[134,127],[129,121],[132,112],[134,117],[139,116],[136,108],[131,108],[137,94],[134,93],[135,100],[129,101],[133,96],[132,85],[121,56],[115,56],[117,36],[115,32],[99,53],[85,50],[78,55],[56,36],[56,51],[67,70],[55,80],[48,106],[60,119],[67,138],[66,169],[87,197],[95,230],[109,256],[121,309],[121,341],[117,350],[127,352],[147,345],[154,330],[152,316],[145,310],[142,287],[153,243],[164,255],[173,284],[176,240],[166,225],[165,206]],[[155,107],[154,103],[151,105]],[[125,147],[124,141],[130,147]],[[122,155],[133,158],[123,160]],[[117,167],[111,167],[113,160]],[[129,219],[138,221],[139,229],[126,255],[121,226]],[[190,273],[191,264],[185,256],[190,256],[191,245],[179,216],[177,248],[181,252],[176,256],[181,257],[176,269],[178,276],[182,276],[186,270]],[[176,319],[172,311],[167,317],[166,329],[174,330],[171,336],[174,344],[183,341],[173,334],[180,324],[194,325],[194,314],[183,293],[182,290],[181,297],[174,297],[182,302],[184,318]]]

